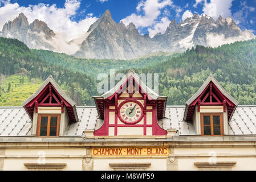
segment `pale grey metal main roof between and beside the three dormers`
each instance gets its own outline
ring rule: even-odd
[[[76,106],[79,122],[70,122],[64,136],[83,135],[102,121],[95,106]],[[166,106],[163,129],[174,128],[178,135],[196,135],[193,123],[183,121],[185,106]],[[32,121],[23,107],[0,107],[0,137],[30,136]],[[229,135],[256,135],[256,105],[238,105],[229,121]]]

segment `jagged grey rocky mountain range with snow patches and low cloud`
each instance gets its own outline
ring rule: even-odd
[[[217,20],[207,15],[194,14],[179,24],[172,20],[164,34],[153,38],[140,35],[135,25],[116,23],[109,10],[93,23],[80,38],[66,42],[61,32],[52,31],[46,23],[35,19],[29,24],[21,13],[5,23],[0,36],[16,38],[30,48],[49,49],[56,52],[94,59],[133,59],[151,52],[182,52],[201,46],[217,47],[239,40],[250,40],[255,35],[242,31],[230,17]]]

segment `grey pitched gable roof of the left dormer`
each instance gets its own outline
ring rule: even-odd
[[[50,75],[44,82],[43,84],[35,91],[35,93],[33,93],[29,98],[27,98],[27,100],[25,100],[24,102],[22,102],[22,106],[25,107],[25,110],[27,111],[27,113],[29,113],[30,118],[32,119],[32,115],[30,114],[31,111],[28,111],[28,108],[26,107],[27,104],[29,104],[32,100],[34,100],[34,98],[36,96],[38,96],[38,94],[40,94],[44,88],[46,88],[46,86],[51,83],[52,86],[54,86],[54,88],[56,89],[56,91],[58,92],[58,94],[68,102],[68,104],[70,104],[71,106],[71,110],[74,112],[74,119],[75,121],[78,121],[78,117],[76,114],[76,103],[71,100],[70,97],[68,97],[68,95],[66,93],[63,92],[63,90],[60,88],[60,86],[57,84],[57,82],[54,80],[54,78],[52,78],[52,76]],[[34,107],[32,107],[33,109]],[[70,110],[70,109],[68,109]]]

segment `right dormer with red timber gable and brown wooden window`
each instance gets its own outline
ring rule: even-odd
[[[237,105],[238,101],[210,75],[186,102],[184,121],[193,122],[197,135],[223,136]]]

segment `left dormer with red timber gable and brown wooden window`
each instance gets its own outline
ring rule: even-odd
[[[70,122],[78,122],[75,102],[63,92],[52,76],[22,103],[32,120],[32,135],[58,137]]]

